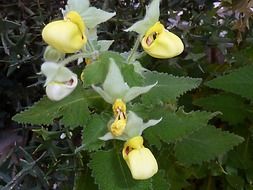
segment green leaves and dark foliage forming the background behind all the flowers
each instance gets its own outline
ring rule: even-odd
[[[117,12],[99,27],[99,38],[114,39],[112,50],[128,51],[136,35],[123,29],[143,17],[148,1],[91,3]],[[222,0],[226,11],[221,12],[212,1],[163,0],[161,22],[181,36],[183,54],[141,58],[150,70],[145,80],[112,52],[92,65],[73,65],[79,76],[84,69],[86,84],[55,103],[44,96],[44,79],[36,73],[45,47],[41,29],[60,18],[64,4],[13,0],[0,5],[2,189],[253,189],[252,1]],[[158,81],[128,105],[144,120],[163,118],[144,132],[145,146],[159,164],[149,180],[131,178],[122,142],[98,140],[107,130],[111,106],[89,85],[104,80],[109,57],[130,86]]]

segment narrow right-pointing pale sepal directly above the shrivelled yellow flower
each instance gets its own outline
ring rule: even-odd
[[[125,96],[123,97],[123,101],[124,102],[129,102],[129,101],[133,100],[134,98],[136,98],[137,96],[139,96],[141,94],[144,94],[144,93],[147,93],[156,84],[157,84],[157,82],[155,84],[152,84],[152,85],[149,85],[149,86],[130,88],[127,91],[127,93],[125,94]]]

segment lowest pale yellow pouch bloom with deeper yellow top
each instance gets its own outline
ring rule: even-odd
[[[152,152],[143,146],[143,138],[136,136],[129,139],[122,151],[134,179],[144,180],[158,171],[158,165]]]

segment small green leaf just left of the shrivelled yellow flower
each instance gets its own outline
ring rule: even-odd
[[[109,119],[103,119],[99,115],[94,115],[88,121],[87,126],[83,130],[83,146],[85,150],[93,151],[101,148],[105,143],[99,140],[107,133],[107,122]]]

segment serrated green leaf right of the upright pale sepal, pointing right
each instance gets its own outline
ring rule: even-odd
[[[143,95],[143,101],[146,104],[159,103],[176,103],[177,98],[185,92],[197,88],[201,79],[189,77],[176,77],[166,73],[148,72],[145,74],[146,84],[158,84],[147,94]]]

